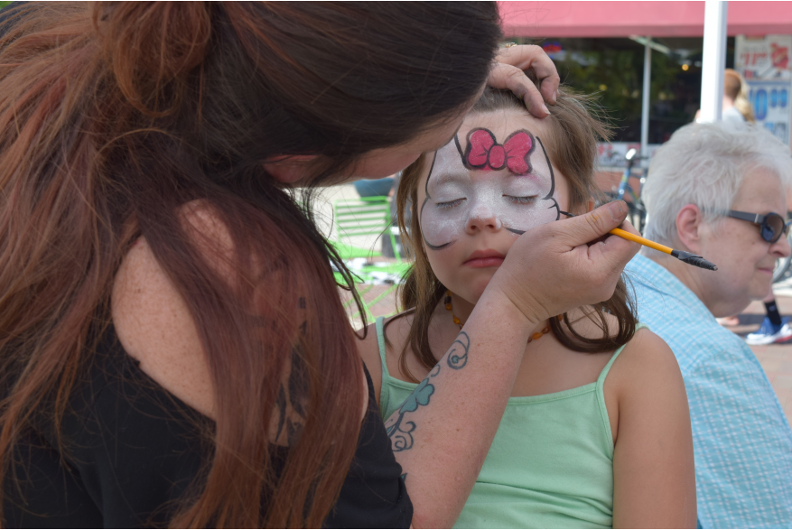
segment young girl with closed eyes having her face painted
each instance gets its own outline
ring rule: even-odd
[[[562,91],[539,121],[488,90],[449,144],[403,172],[399,220],[415,249],[401,292],[408,309],[377,320],[361,343],[396,448],[410,440],[402,416],[431,400],[448,349],[459,349],[450,366],[486,362],[467,358],[460,330],[515,239],[592,209],[597,136],[607,134],[586,98]],[[458,527],[694,527],[685,386],[666,343],[636,320],[623,280],[610,300],[558,315],[528,340],[482,464]]]

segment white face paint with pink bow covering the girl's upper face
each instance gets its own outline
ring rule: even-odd
[[[553,168],[534,135],[518,130],[498,144],[478,128],[462,147],[454,137],[435,153],[421,207],[427,246],[451,246],[474,219],[522,234],[559,218]]]

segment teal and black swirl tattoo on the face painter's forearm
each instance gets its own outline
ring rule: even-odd
[[[454,370],[460,370],[465,367],[468,364],[468,352],[470,349],[471,338],[467,333],[461,331],[457,339],[454,340],[451,351],[448,353],[448,358],[446,359],[448,366]],[[415,413],[420,407],[429,404],[429,400],[432,399],[434,394],[432,379],[437,377],[439,373],[440,364],[438,363],[432,368],[429,375],[415,387],[413,393],[405,399],[405,403],[399,407],[396,414],[393,414],[387,420],[385,428],[394,452],[412,449],[415,442],[413,432],[415,432],[416,425],[415,422],[406,421],[405,415]],[[406,474],[404,477],[406,477]]]

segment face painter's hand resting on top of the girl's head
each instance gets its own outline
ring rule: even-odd
[[[510,46],[501,49],[496,60],[487,84],[492,88],[514,92],[526,102],[528,112],[532,115],[540,118],[549,115],[545,101],[555,105],[561,78],[555,70],[553,60],[545,51],[533,45]],[[536,78],[542,82],[541,92],[536,89],[531,79],[526,78],[525,70],[534,70]]]

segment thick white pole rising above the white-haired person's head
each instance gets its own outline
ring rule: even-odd
[[[728,2],[704,3],[702,58],[702,113],[699,121],[721,121],[723,70],[726,68],[726,13]]]

